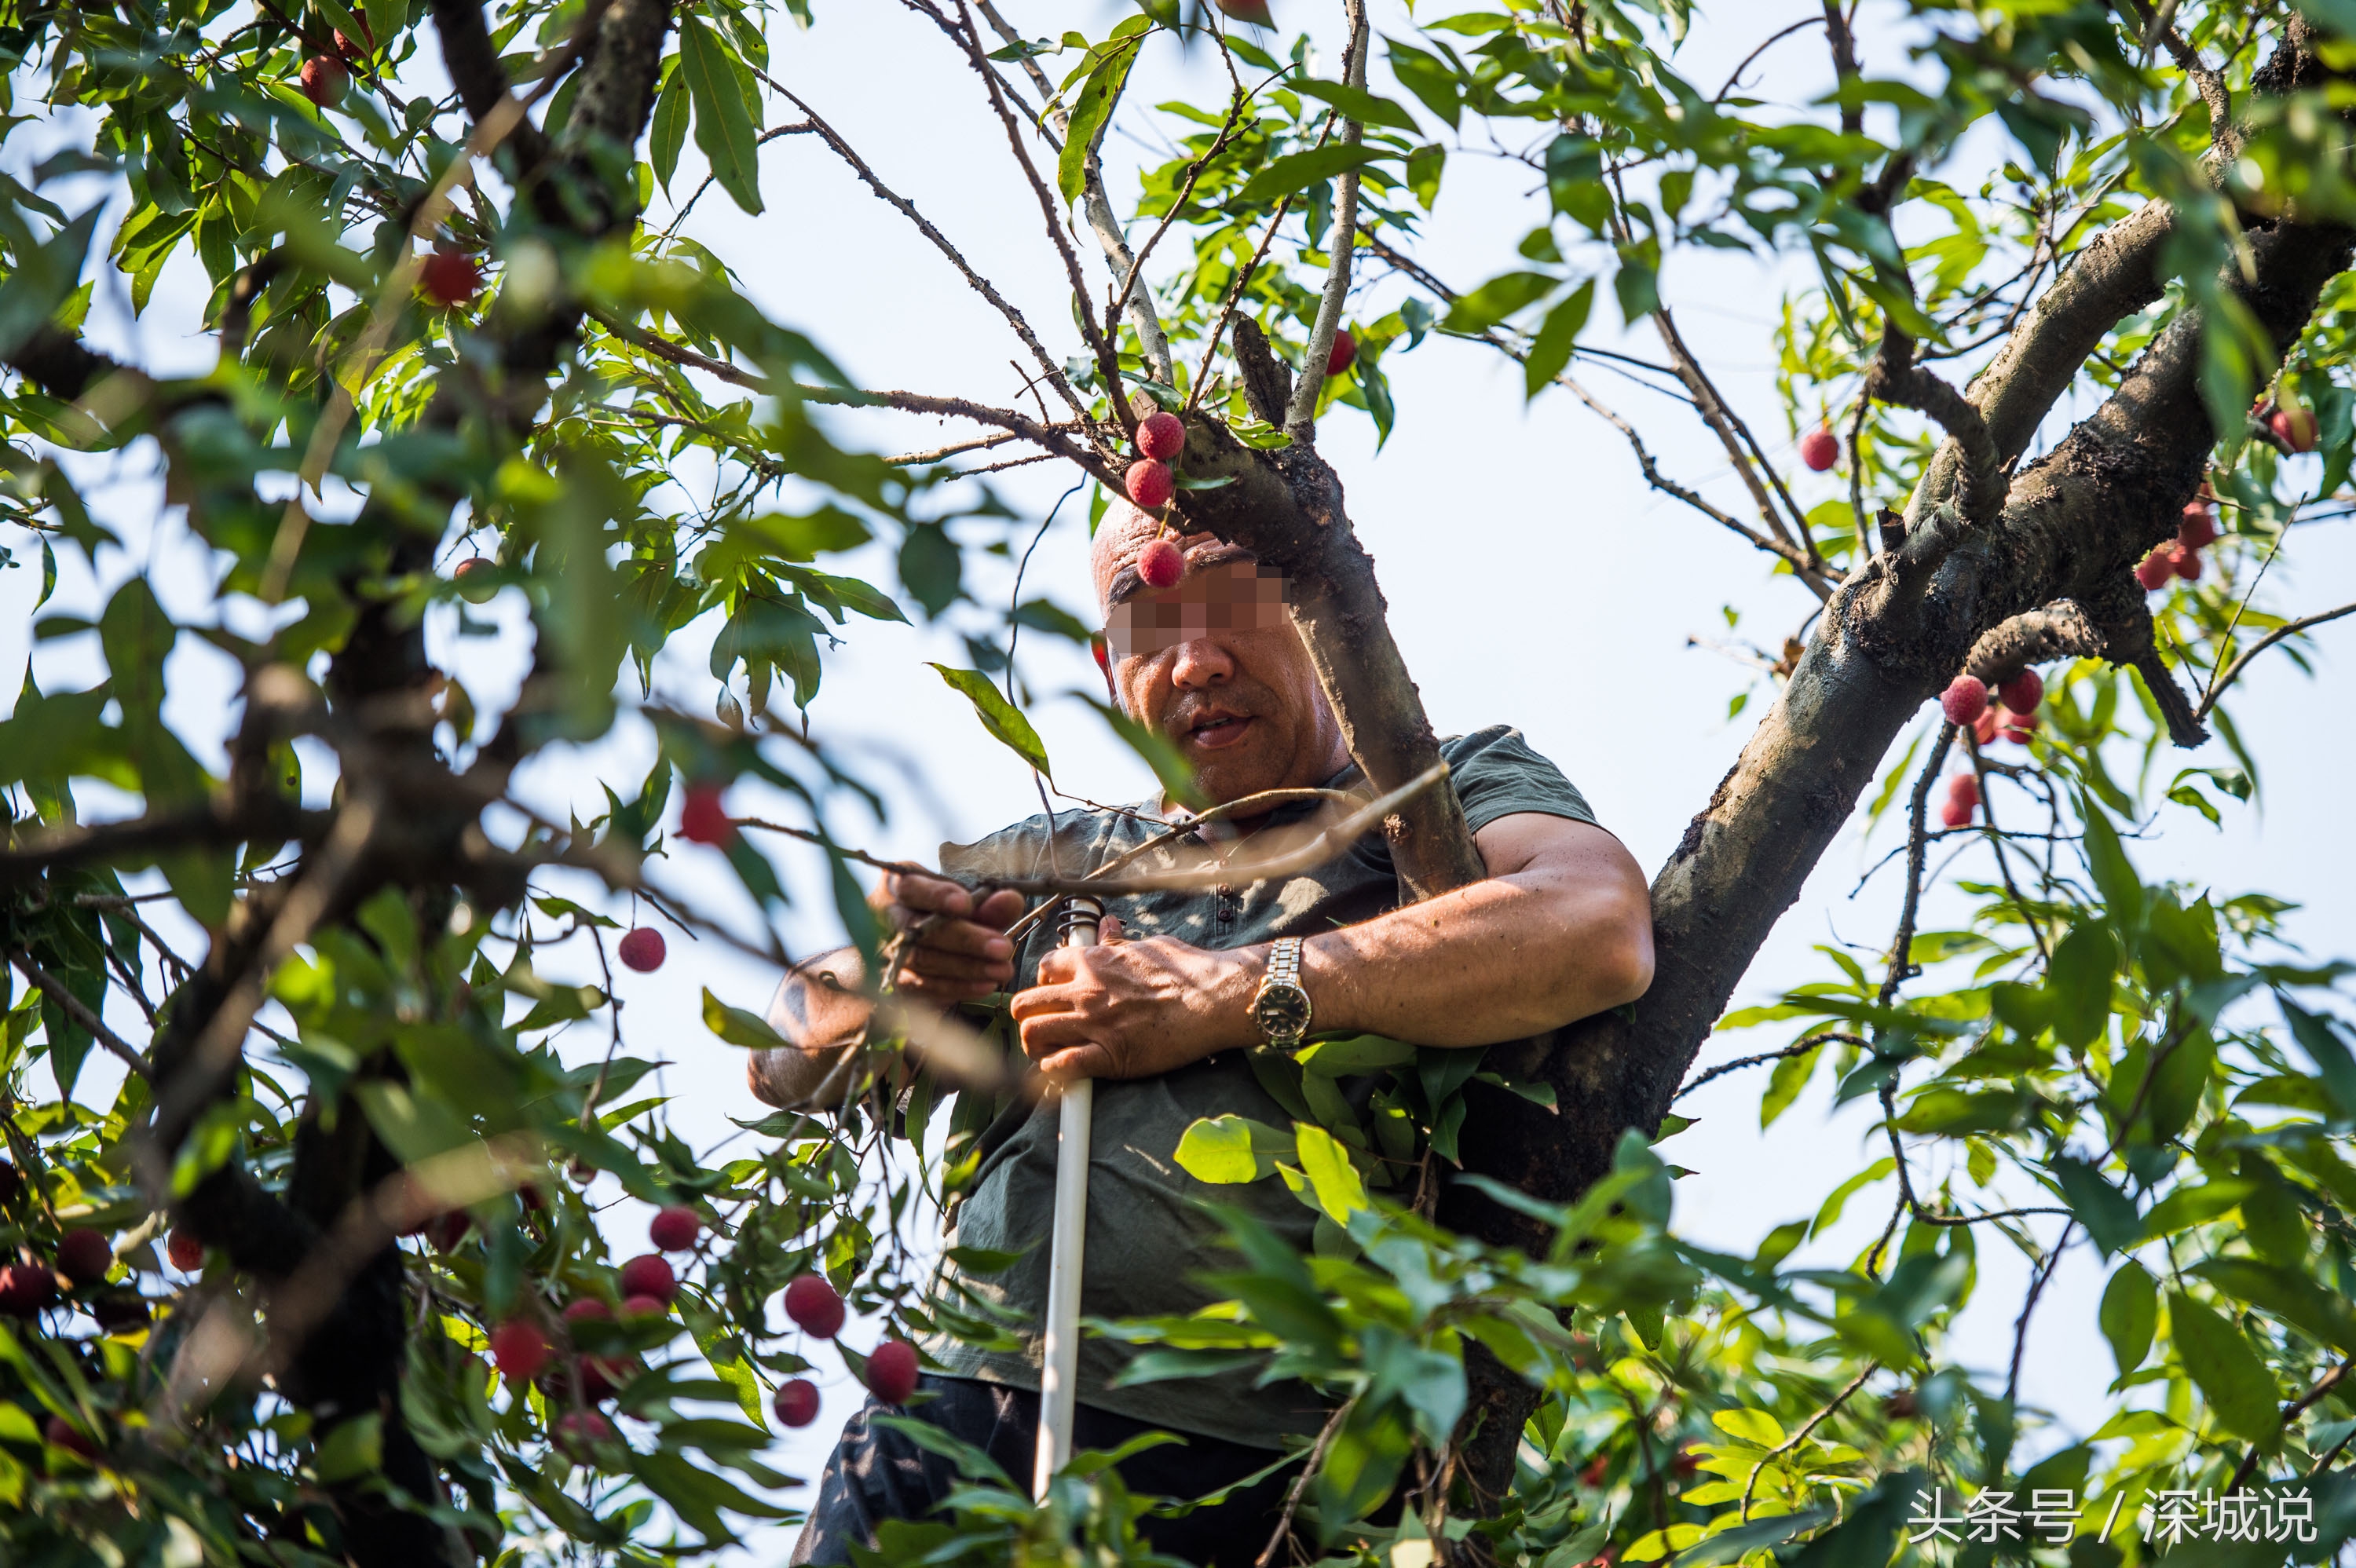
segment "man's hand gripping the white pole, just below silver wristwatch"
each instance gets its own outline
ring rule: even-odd
[[[1107,918],[1096,946],[1058,946],[1039,984],[1015,991],[1023,1052],[1051,1078],[1152,1078],[1258,1043],[1251,996],[1260,949],[1213,951],[1176,937],[1129,942]]]

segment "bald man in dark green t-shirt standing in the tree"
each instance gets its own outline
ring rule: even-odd
[[[1183,542],[1185,574],[1150,589],[1140,556],[1157,520],[1119,509],[1098,532],[1096,589],[1112,662],[1107,678],[1133,718],[1166,735],[1211,803],[1272,789],[1350,789],[1359,782],[1298,633],[1284,582],[1209,534]],[[1164,565],[1164,563],[1154,563]],[[1159,574],[1159,572],[1157,572]],[[1383,1034],[1423,1045],[1489,1045],[1642,996],[1652,979],[1644,878],[1602,831],[1579,791],[1515,730],[1489,727],[1442,744],[1487,881],[1395,909],[1388,848],[1366,838],[1289,878],[1253,878],[1263,845],[1298,838],[1322,803],[1282,805],[1204,824],[1192,843],[1140,866],[1237,866],[1206,890],[1110,902],[1103,944],[1058,949],[1041,923],[1020,944],[1008,928],[1025,899],[990,890],[1008,876],[1081,876],[1166,831],[1162,803],[1126,812],[1032,817],[978,845],[945,845],[942,878],[886,876],[876,911],[898,928],[928,918],[898,989],[933,1005],[1011,991],[1023,1052],[1055,1078],[1103,1078],[1088,1184],[1084,1311],[1190,1314],[1220,1297],[1197,1283],[1232,1264],[1223,1229],[1197,1198],[1213,1196],[1171,1158],[1185,1128],[1242,1114],[1284,1125],[1249,1048],[1298,1045],[1315,1034]],[[1291,833],[1289,833],[1291,831]],[[1253,843],[1260,841],[1260,843]],[[1176,852],[1173,852],[1176,850]],[[1286,982],[1289,975],[1298,979]],[[796,1050],[754,1057],[754,1092],[770,1104],[825,1104],[848,1043],[869,1015],[855,949],[785,979],[770,1012]],[[1013,1123],[1013,1125],[1008,1125]],[[1055,1177],[1055,1116],[1039,1109],[1001,1123],[954,1217],[954,1243],[1018,1260],[954,1283],[1039,1323],[1046,1300]],[[987,1144],[990,1140],[985,1140]],[[1277,1182],[1216,1194],[1303,1253],[1317,1217]],[[926,1351],[949,1377],[914,1408],[990,1450],[1011,1474],[1030,1467],[1039,1410],[1037,1328],[1023,1354],[935,1340]],[[1324,1420],[1303,1384],[1256,1389],[1251,1370],[1152,1387],[1110,1387],[1124,1347],[1081,1347],[1074,1443],[1112,1448],[1138,1431],[1190,1441],[1133,1457],[1133,1490],[1192,1497],[1270,1464],[1286,1436]],[[869,1403],[843,1429],[794,1561],[848,1561],[881,1519],[931,1511],[954,1469],[907,1436],[869,1424]],[[1162,1552],[1194,1561],[1249,1561],[1268,1540],[1284,1479],[1244,1488],[1218,1509],[1152,1521]],[[1239,1552],[1249,1542],[1249,1552]]]

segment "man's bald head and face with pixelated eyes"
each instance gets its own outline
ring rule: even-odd
[[[1211,800],[1319,784],[1348,765],[1333,709],[1284,610],[1275,570],[1209,534],[1183,539],[1176,589],[1147,589],[1136,560],[1157,525],[1107,518],[1096,591],[1121,709],[1176,742]]]

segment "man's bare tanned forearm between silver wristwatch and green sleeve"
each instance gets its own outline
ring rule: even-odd
[[[1652,982],[1649,899],[1633,862],[1595,859],[1541,859],[1312,937],[1312,1029],[1491,1045],[1635,1001]]]

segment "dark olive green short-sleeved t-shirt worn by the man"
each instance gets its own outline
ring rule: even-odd
[[[1449,760],[1449,779],[1463,800],[1472,831],[1515,812],[1595,822],[1571,782],[1531,751],[1520,730],[1496,725],[1461,735],[1442,742],[1440,753]],[[1352,786],[1364,791],[1357,768],[1326,782],[1326,789]],[[1277,836],[1282,826],[1305,822],[1317,810],[1317,805],[1279,810],[1258,836]],[[992,876],[1084,876],[1162,831],[1166,824],[1159,805],[1131,808],[1126,815],[1070,810],[1058,812],[1053,841],[1048,819],[1030,817],[973,845],[942,845],[940,869],[968,885],[987,883]],[[1053,857],[1048,855],[1051,843]],[[1204,843],[1194,836],[1173,848],[1180,852],[1154,850],[1129,869],[1166,871],[1204,862]],[[1235,848],[1239,859],[1253,855],[1249,841],[1213,848]],[[1301,876],[1209,892],[1114,897],[1105,902],[1105,911],[1119,916],[1121,930],[1131,937],[1178,937],[1192,946],[1227,949],[1275,937],[1312,937],[1374,918],[1397,902],[1390,848],[1381,833],[1366,833],[1348,852]],[[1025,937],[1015,954],[1015,989],[1034,984],[1039,956],[1053,944],[1053,923],[1041,923]],[[1310,1003],[1315,1005],[1315,994]],[[1310,1250],[1315,1215],[1293,1198],[1282,1180],[1211,1187],[1197,1182],[1173,1161],[1178,1140],[1197,1118],[1225,1114],[1279,1128],[1291,1121],[1258,1085],[1239,1050],[1192,1062],[1159,1078],[1096,1085],[1088,1234],[1079,1302],[1084,1316],[1183,1316],[1223,1300],[1197,1276],[1237,1267],[1237,1255],[1225,1243],[1218,1220],[1204,1212],[1202,1201],[1242,1208],[1301,1253]],[[957,1210],[949,1245],[1015,1253],[1018,1257],[999,1274],[964,1274],[947,1262],[945,1271],[957,1274],[961,1285],[1032,1326],[1018,1333],[1020,1354],[980,1351],[947,1335],[926,1340],[926,1354],[959,1377],[1023,1389],[1039,1387],[1037,1326],[1046,1302],[1055,1142],[1055,1107],[1041,1104],[1013,1137],[985,1158]],[[1253,1387],[1251,1370],[1131,1389],[1110,1387],[1114,1373],[1133,1354],[1133,1347],[1112,1340],[1081,1340],[1081,1403],[1173,1431],[1194,1431],[1258,1448],[1282,1448],[1284,1436],[1315,1434],[1324,1424],[1326,1410],[1308,1384],[1279,1382],[1263,1389]]]

